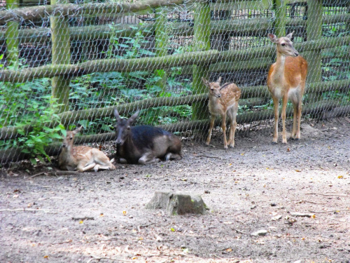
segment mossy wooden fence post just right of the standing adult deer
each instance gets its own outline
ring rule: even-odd
[[[307,41],[322,39],[322,0],[307,0]],[[321,82],[321,49],[307,51],[304,56],[308,62],[307,82]],[[320,100],[319,93],[310,94],[309,102]]]

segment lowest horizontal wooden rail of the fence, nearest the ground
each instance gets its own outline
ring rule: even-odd
[[[337,107],[339,112],[343,114],[348,114],[350,112],[350,106],[342,106],[339,107],[339,102],[335,102],[332,100],[325,100],[316,102],[314,104],[309,104],[303,107],[302,114],[318,114],[321,118],[325,117],[325,114],[320,114],[324,111],[329,111]],[[286,111],[288,116],[292,116],[293,109],[288,108]],[[262,112],[248,112],[244,114],[239,114],[237,116],[237,123],[248,123],[252,121],[264,121],[267,119],[272,119],[274,116],[273,110],[266,110]],[[216,126],[220,123],[219,120],[216,121]],[[186,130],[207,130],[209,126],[209,119],[200,120],[200,121],[182,121],[173,124],[167,124],[160,126],[165,130],[169,130],[170,132],[183,132]],[[76,144],[89,143],[89,142],[104,142],[113,140],[116,137],[115,133],[102,133],[99,135],[86,135],[76,137],[74,142]],[[45,152],[49,156],[57,156],[59,154],[59,149],[61,147],[60,143],[52,143],[45,147]],[[20,148],[11,148],[11,149],[1,149],[0,150],[0,163],[8,163],[10,161],[20,161],[22,159],[28,159],[29,156],[21,152]]]

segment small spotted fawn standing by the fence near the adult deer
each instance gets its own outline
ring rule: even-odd
[[[207,137],[207,145],[211,140],[211,131],[214,127],[214,121],[216,115],[221,116],[223,119],[221,128],[223,128],[223,147],[228,149],[235,147],[235,132],[236,132],[236,116],[238,111],[238,101],[241,97],[241,90],[235,83],[225,83],[220,86],[221,77],[216,82],[209,82],[207,79],[202,78],[205,86],[209,88],[209,112],[211,113],[209,135]],[[226,114],[230,120],[230,134],[228,136],[228,142],[226,140]]]

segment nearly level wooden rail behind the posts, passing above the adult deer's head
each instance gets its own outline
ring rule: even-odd
[[[350,20],[350,14],[324,15],[323,23],[346,22]],[[306,20],[302,18],[288,18],[288,27],[306,26]],[[190,36],[193,35],[193,27],[188,22],[174,22],[171,25],[172,35]],[[265,36],[271,31],[273,20],[268,18],[255,18],[254,20],[221,20],[211,21],[211,34],[235,34],[239,36]],[[142,32],[145,36],[154,32],[153,24],[142,25],[94,25],[85,27],[69,27],[71,41],[83,41],[92,39],[109,39],[111,35],[134,36],[137,32]],[[36,42],[43,43],[50,41],[49,28],[20,29],[18,39],[22,43]],[[5,32],[0,32],[0,43],[6,40]]]

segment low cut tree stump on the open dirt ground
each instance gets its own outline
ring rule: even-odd
[[[168,215],[204,214],[207,210],[201,196],[172,191],[156,191],[146,209],[164,209]]]

